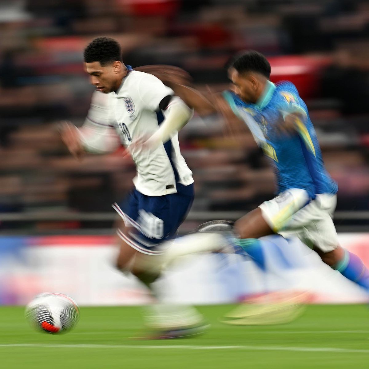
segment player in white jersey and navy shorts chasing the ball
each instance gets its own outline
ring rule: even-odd
[[[192,172],[177,135],[193,111],[153,75],[125,66],[114,39],[94,39],[84,59],[96,92],[83,126],[65,123],[62,139],[76,157],[112,152],[119,144],[130,152],[137,168],[135,189],[123,204],[113,204],[121,217],[117,266],[151,289],[160,268],[152,270],[147,260],[163,253],[162,245],[170,244],[163,241],[175,237],[193,201]],[[196,314],[184,315],[176,328],[200,323]]]

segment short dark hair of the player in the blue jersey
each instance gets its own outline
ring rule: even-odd
[[[265,56],[255,50],[248,50],[235,55],[226,66],[227,68],[234,68],[238,73],[257,72],[268,79],[272,70]]]

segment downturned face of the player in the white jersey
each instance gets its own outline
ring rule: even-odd
[[[119,62],[102,66],[100,62],[85,63],[86,72],[90,75],[90,81],[96,91],[109,93],[115,91],[120,85],[120,75],[117,65]],[[119,63],[121,64],[121,63]]]

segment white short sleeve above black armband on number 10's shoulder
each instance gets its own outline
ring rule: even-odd
[[[145,73],[144,77],[138,82],[138,94],[144,108],[157,111],[164,97],[174,95],[174,91],[165,86],[164,83],[155,76]]]

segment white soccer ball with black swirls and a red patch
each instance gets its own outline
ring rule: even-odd
[[[25,316],[32,327],[60,333],[74,327],[79,318],[76,301],[61,293],[41,293],[26,306]]]

